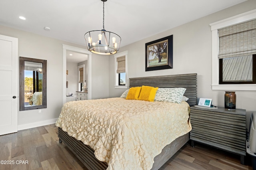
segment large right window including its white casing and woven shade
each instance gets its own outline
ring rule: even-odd
[[[210,26],[212,89],[256,90],[256,10]]]

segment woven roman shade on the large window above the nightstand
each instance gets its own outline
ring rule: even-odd
[[[218,30],[218,58],[256,54],[256,19]]]

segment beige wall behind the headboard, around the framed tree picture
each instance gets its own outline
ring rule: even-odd
[[[224,107],[225,92],[216,90],[213,91],[211,87],[212,32],[209,24],[254,9],[256,9],[256,1],[248,0],[242,4],[238,4],[220,12],[216,12],[215,14],[205,16],[182,26],[170,29],[166,32],[156,34],[144,40],[122,47],[119,52],[126,50],[128,51],[128,77],[197,73],[198,98],[212,98],[213,105]],[[173,35],[173,69],[145,71],[145,43],[170,35]],[[110,97],[120,96],[124,89],[114,89],[113,56],[110,56],[109,76]],[[252,111],[256,111],[256,91],[237,91],[236,99],[236,107],[246,109],[248,118],[250,117]]]

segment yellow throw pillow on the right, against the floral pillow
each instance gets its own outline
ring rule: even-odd
[[[142,86],[139,100],[154,101],[158,87]]]

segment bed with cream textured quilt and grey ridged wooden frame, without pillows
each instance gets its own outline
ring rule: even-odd
[[[171,107],[176,109],[168,109],[170,107],[168,102],[126,100],[120,97],[96,99],[85,101],[85,103],[82,103],[84,101],[72,101],[64,104],[62,113],[56,122],[56,126],[59,127],[60,142],[63,141],[86,165],[86,168],[92,170],[159,169],[189,140],[189,131],[191,130],[189,105],[196,105],[197,74],[129,79],[130,87],[142,85],[159,88],[186,88],[184,96],[189,99],[180,104],[173,103]],[[119,108],[118,103],[126,107]],[[72,105],[76,109],[70,109]],[[86,107],[83,108],[83,105]],[[99,109],[99,105],[104,105],[105,110]],[[182,106],[182,109],[178,105]],[[151,110],[157,107],[158,109]],[[130,112],[134,108],[136,111]],[[130,115],[127,113],[122,114],[122,116],[116,114],[116,112],[125,112],[127,109],[130,109]],[[74,110],[78,112],[70,115]],[[92,115],[92,111],[95,110],[98,112],[97,115]],[[176,118],[178,116],[173,116],[172,112],[174,111],[176,111],[175,114],[188,112],[186,113],[187,117],[184,118],[186,120],[185,123],[183,122],[184,125],[168,124],[172,119],[178,119]],[[87,115],[92,115],[93,118],[84,116],[84,112]],[[152,113],[154,113],[153,118]],[[104,114],[105,116],[103,116]],[[158,117],[159,115],[160,117]],[[124,119],[121,120],[119,117]],[[78,121],[75,121],[76,119]],[[160,119],[160,122],[154,122],[156,121],[154,119]],[[104,120],[106,120],[105,123],[98,125],[98,122],[104,122]],[[83,124],[84,122],[86,125]],[[91,127],[86,127],[89,124]],[[87,130],[83,130],[83,126]],[[170,132],[174,131],[172,129],[183,129],[183,131],[175,131],[171,134]],[[110,134],[107,133],[108,131]],[[152,138],[147,136],[152,136]]]

